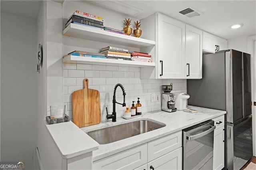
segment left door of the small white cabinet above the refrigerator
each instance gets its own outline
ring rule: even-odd
[[[208,32],[203,32],[203,51],[215,53],[215,36]]]

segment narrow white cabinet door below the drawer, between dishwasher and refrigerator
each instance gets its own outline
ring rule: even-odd
[[[224,168],[224,127],[214,130],[213,170]]]

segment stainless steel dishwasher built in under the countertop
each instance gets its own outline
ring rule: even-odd
[[[183,170],[212,170],[214,121],[182,130]]]

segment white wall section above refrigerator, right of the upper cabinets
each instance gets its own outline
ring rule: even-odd
[[[235,49],[248,53],[248,36],[228,40],[228,49]]]

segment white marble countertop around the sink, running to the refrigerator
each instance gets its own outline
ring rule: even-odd
[[[165,127],[152,130],[150,132],[132,136],[130,138],[126,138],[126,139],[112,142],[109,144],[100,144],[99,149],[94,150],[92,152],[93,161],[96,161],[106,156],[116,154],[123,150],[133,148],[140,144],[144,144],[151,140],[160,138],[162,136],[166,136],[168,134],[172,134],[174,132],[178,132],[179,130],[182,130],[184,128],[188,128],[198,123],[202,123],[204,121],[226,114],[226,111],[207,109],[202,107],[188,106],[188,109],[195,109],[195,110],[198,110],[198,112],[187,113],[184,111],[176,111],[176,112],[168,113],[165,111],[153,111],[153,112],[142,114],[142,117],[136,117],[134,119],[128,119],[128,120],[123,118],[118,118],[116,119],[116,122],[112,122],[112,120],[110,119],[107,121],[102,121],[98,125],[84,127],[81,129],[84,132],[88,132],[88,131],[97,130],[100,128],[110,127],[113,125],[128,123],[135,120],[151,120],[154,122],[166,124]]]

